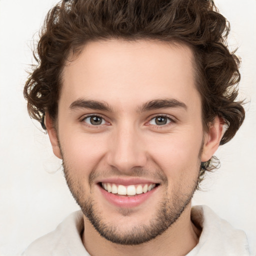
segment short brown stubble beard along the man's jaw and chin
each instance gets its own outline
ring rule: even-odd
[[[120,231],[118,229],[118,224],[109,224],[104,221],[104,218],[99,212],[95,200],[89,195],[90,192],[87,191],[85,193],[84,188],[79,184],[79,182],[71,177],[71,171],[65,164],[64,158],[62,166],[69,190],[77,204],[80,206],[83,214],[87,217],[87,219],[102,237],[113,243],[122,245],[137,245],[147,242],[171,227],[171,225],[175,223],[175,221],[179,218],[184,209],[190,203],[194,191],[198,185],[197,178],[193,181],[188,193],[175,191],[171,198],[168,198],[168,186],[167,181],[165,180],[163,184],[166,188],[166,194],[162,200],[158,202],[155,216],[152,217],[152,219],[149,221],[149,224],[138,224],[134,225],[130,230]],[[87,198],[84,198],[84,195],[86,194],[88,194],[88,196]],[[132,212],[130,212],[128,209],[120,210],[119,213],[122,216],[128,216],[132,214]]]

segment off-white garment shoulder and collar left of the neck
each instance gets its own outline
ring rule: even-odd
[[[54,231],[33,241],[22,256],[89,255],[82,244],[83,214],[75,211],[67,216]]]

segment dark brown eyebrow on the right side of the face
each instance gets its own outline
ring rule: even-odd
[[[141,107],[137,109],[138,112],[145,112],[149,110],[155,110],[159,108],[168,108],[168,107],[181,107],[184,108],[185,110],[187,109],[187,106],[185,103],[174,99],[174,98],[169,98],[169,99],[154,99],[145,102],[142,104]]]

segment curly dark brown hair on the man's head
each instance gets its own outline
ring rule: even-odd
[[[211,0],[63,0],[47,14],[34,57],[37,65],[24,86],[29,115],[56,120],[61,71],[70,54],[88,41],[152,39],[188,45],[194,54],[196,86],[204,129],[220,116],[229,141],[244,119],[237,100],[239,59],[226,38],[230,26]],[[210,170],[210,161],[201,170]]]

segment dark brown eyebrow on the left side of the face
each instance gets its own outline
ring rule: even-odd
[[[90,108],[90,109],[97,109],[102,111],[109,111],[112,112],[112,108],[106,102],[99,102],[96,100],[85,100],[85,99],[77,99],[73,101],[70,106],[70,109],[75,108]]]

